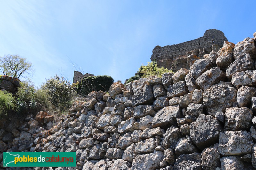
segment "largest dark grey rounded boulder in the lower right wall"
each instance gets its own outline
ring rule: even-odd
[[[217,143],[221,131],[220,122],[211,115],[201,114],[190,124],[190,137],[201,150]]]

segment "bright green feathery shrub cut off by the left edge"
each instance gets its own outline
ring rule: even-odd
[[[0,91],[0,117],[8,115],[10,112],[15,111],[16,101],[11,93]]]

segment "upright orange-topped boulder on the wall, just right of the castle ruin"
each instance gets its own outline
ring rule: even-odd
[[[220,48],[218,51],[218,58],[216,59],[216,64],[220,69],[226,70],[226,68],[234,61],[233,49],[235,44],[232,42],[227,42],[226,45]]]

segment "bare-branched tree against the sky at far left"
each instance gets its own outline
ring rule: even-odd
[[[0,57],[0,70],[4,75],[20,78],[23,73],[33,72],[32,63],[19,55],[4,55]]]

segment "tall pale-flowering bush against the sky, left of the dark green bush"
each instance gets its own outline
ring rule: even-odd
[[[72,105],[72,100],[76,93],[71,87],[70,81],[57,75],[48,79],[43,85],[44,90],[49,95],[52,105],[62,111],[68,109]]]

